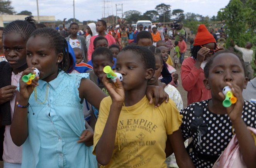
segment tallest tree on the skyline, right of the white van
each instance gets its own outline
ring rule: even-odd
[[[156,11],[159,13],[159,22],[170,22],[171,18],[171,5],[161,3],[156,5]]]

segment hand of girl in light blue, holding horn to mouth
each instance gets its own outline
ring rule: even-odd
[[[22,81],[22,77],[24,75],[28,75],[29,73],[32,73],[32,74],[36,73],[34,72],[34,67],[25,69],[20,77],[20,97],[24,99],[29,99],[35,87],[39,85],[37,83],[39,80],[39,77],[36,77],[35,80],[32,80],[32,83],[30,85]]]

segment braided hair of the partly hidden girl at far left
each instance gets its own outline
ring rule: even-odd
[[[31,33],[36,30],[34,22],[33,16],[26,17],[25,20],[15,20],[4,28],[3,36],[8,33],[19,33],[25,42],[27,42]]]

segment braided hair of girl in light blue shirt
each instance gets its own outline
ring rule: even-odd
[[[68,53],[68,43],[64,37],[52,28],[39,28],[31,34],[31,37],[46,37],[51,46],[55,47],[55,53],[63,53],[63,60],[59,63],[59,70],[67,72],[70,68],[70,58]]]

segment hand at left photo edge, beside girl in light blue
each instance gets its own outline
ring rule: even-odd
[[[0,105],[12,100],[17,86],[8,85],[0,88]]]

